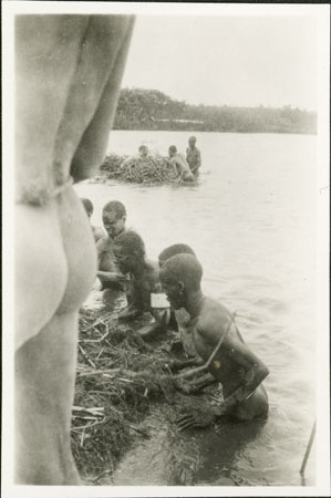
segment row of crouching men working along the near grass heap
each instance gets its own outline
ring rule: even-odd
[[[82,201],[91,216],[91,201]],[[224,402],[217,408],[186,413],[178,419],[179,427],[205,427],[223,415],[240,421],[266,416],[268,398],[261,382],[269,371],[245,344],[235,317],[203,294],[203,268],[194,250],[186,243],[173,245],[161,252],[156,263],[147,258],[139,235],[126,229],[126,209],[121,201],[107,203],[102,220],[104,236],[92,227],[97,277],[102,290],[125,292],[127,307],[118,319],[132,320],[149,312],[154,321],[139,329],[145,340],[175,324],[187,356],[207,362],[208,371],[223,386]]]

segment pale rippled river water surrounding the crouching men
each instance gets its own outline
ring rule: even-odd
[[[107,152],[134,154],[142,143],[164,155],[172,144],[184,152],[188,136],[112,132]],[[195,484],[226,484],[221,476],[236,471],[255,486],[300,486],[314,419],[317,137],[196,136],[203,166],[195,186],[112,181],[82,183],[75,189],[93,201],[93,225],[102,226],[106,201],[123,201],[127,225],[142,236],[151,259],[175,242],[192,246],[204,267],[204,292],[237,311],[245,341],[270,370],[266,424],[200,432],[194,442],[185,436],[188,448],[194,444],[192,452],[200,453]],[[142,448],[133,450],[113,484],[173,484],[165,469],[167,449],[159,458],[161,439],[168,444],[165,425],[154,444],[158,456],[153,456],[153,442],[144,458]],[[314,485],[314,464],[312,450],[307,485]]]

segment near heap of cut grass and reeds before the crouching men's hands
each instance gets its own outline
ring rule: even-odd
[[[80,315],[79,364],[71,443],[83,478],[112,474],[152,400],[170,400],[168,353],[151,347],[111,313]]]

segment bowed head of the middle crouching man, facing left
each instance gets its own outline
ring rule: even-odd
[[[145,245],[135,231],[123,231],[115,239],[114,255],[122,273],[134,271],[145,259]]]

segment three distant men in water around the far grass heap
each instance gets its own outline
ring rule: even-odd
[[[180,181],[194,181],[199,174],[199,168],[201,166],[201,154],[196,147],[196,142],[197,139],[195,136],[189,137],[186,157],[184,154],[178,153],[176,145],[170,145],[168,148],[169,166],[173,168],[175,176]],[[121,164],[121,168],[132,169],[136,159],[145,159],[148,157],[148,154],[149,151],[147,145],[141,145],[138,148],[138,154],[124,159]]]

